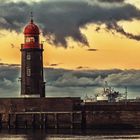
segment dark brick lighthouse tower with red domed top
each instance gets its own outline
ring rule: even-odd
[[[39,28],[30,23],[24,29],[25,43],[21,45],[21,95],[45,97],[43,78],[43,44],[39,43]]]

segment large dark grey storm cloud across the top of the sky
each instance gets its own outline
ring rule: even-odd
[[[43,34],[47,35],[46,39],[56,45],[67,47],[66,37],[88,45],[86,37],[80,31],[88,23],[106,24],[110,30],[139,40],[139,36],[126,33],[117,25],[121,20],[140,18],[140,10],[123,0],[48,0],[32,3],[1,1],[0,28],[20,32],[29,20],[31,10]]]

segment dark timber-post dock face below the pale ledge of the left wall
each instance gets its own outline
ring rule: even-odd
[[[7,124],[1,128],[8,129],[80,129],[81,111],[78,112],[15,112],[9,114]]]

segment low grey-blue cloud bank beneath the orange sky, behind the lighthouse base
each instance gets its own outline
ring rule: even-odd
[[[46,96],[82,97],[102,93],[105,81],[128,98],[140,96],[140,70],[66,70],[45,68]],[[20,66],[0,64],[0,97],[20,96]]]

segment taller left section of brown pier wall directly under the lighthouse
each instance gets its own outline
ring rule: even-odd
[[[81,128],[80,98],[0,99],[1,128]]]

